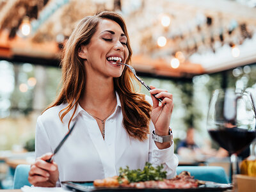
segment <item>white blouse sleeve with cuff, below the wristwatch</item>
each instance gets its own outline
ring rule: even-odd
[[[177,156],[174,154],[174,143],[169,148],[159,149],[156,146],[155,141],[152,139],[152,131],[154,130],[154,124],[150,122],[150,138],[149,138],[149,163],[153,166],[163,164],[163,170],[167,172],[167,179],[175,177],[176,169],[179,164]]]

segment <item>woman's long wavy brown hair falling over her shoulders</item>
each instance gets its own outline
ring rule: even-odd
[[[53,106],[67,103],[67,107],[62,109],[59,113],[61,122],[63,122],[63,118],[67,115],[68,111],[75,108],[68,122],[68,127],[74,117],[78,101],[84,93],[86,84],[86,72],[84,70],[83,59],[78,56],[77,52],[81,45],[88,45],[90,43],[92,36],[97,30],[97,25],[102,19],[115,21],[124,31],[125,36],[127,36],[127,48],[129,51],[126,63],[131,63],[132,50],[129,36],[124,19],[122,19],[120,15],[115,12],[105,11],[90,17],[84,17],[84,19],[79,22],[74,31],[72,31],[63,49],[63,58],[61,61],[62,86],[60,93],[58,93],[54,102],[47,108],[49,109]],[[131,71],[125,67],[122,75],[114,78],[114,86],[122,104],[122,113],[124,116],[123,125],[125,129],[130,136],[143,141],[147,139],[152,107],[148,104],[147,100],[145,100],[145,95],[135,92],[132,79],[135,79],[134,76]]]

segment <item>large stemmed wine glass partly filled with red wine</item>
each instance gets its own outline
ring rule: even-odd
[[[227,89],[215,90],[212,94],[207,130],[211,138],[228,151],[232,177],[239,173],[237,154],[256,137],[255,115],[255,103],[250,92]]]

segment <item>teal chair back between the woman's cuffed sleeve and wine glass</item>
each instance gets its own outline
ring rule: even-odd
[[[228,177],[221,166],[178,166],[177,175],[187,171],[198,180],[209,180],[212,182],[227,184]]]

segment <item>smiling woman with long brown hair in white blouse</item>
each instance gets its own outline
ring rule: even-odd
[[[120,167],[163,164],[176,174],[177,157],[170,141],[152,140],[170,134],[172,94],[151,86],[152,106],[135,93],[131,46],[125,22],[114,12],[85,17],[65,45],[62,87],[36,123],[36,161],[29,171],[34,186],[59,186],[63,180],[95,180],[118,175]],[[151,95],[152,96],[152,95]],[[45,160],[76,122],[74,131],[51,163]],[[50,153],[49,153],[50,152]],[[58,166],[57,166],[58,164]]]

